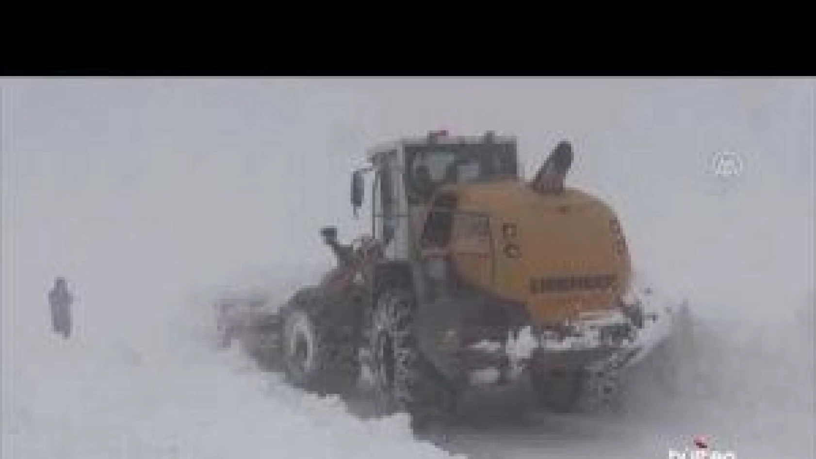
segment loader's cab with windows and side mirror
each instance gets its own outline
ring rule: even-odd
[[[444,131],[375,146],[370,168],[354,173],[352,201],[362,205],[362,173],[373,172],[371,225],[388,260],[415,259],[426,210],[444,186],[486,181],[518,181],[515,138],[494,133],[450,137]],[[428,221],[430,223],[430,221]]]

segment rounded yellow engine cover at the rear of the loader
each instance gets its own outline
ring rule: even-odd
[[[574,189],[542,195],[508,181],[459,186],[455,193],[464,212],[453,224],[455,269],[472,284],[526,304],[537,323],[614,308],[627,288],[625,238],[600,199]]]

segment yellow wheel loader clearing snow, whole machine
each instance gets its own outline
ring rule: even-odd
[[[592,409],[672,330],[676,309],[636,285],[619,219],[565,186],[560,142],[530,180],[517,141],[432,132],[371,149],[370,234],[340,243],[313,286],[286,302],[218,304],[240,339],[295,386],[322,394],[367,381],[378,413],[449,415],[471,389],[527,384],[545,409]]]

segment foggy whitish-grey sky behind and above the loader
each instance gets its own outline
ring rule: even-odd
[[[11,290],[21,279],[44,288],[56,273],[173,289],[242,267],[329,261],[321,225],[350,237],[367,224],[348,203],[366,147],[441,128],[517,134],[528,174],[557,141],[573,141],[572,183],[610,199],[637,263],[678,288],[725,271],[729,288],[756,277],[806,288],[813,274],[813,80],[42,79],[0,89]],[[743,156],[728,186],[707,168],[717,151]]]

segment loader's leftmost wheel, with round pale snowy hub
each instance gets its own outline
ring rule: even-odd
[[[281,350],[290,383],[320,394],[343,394],[359,376],[357,346],[348,327],[333,323],[333,305],[320,295],[293,300],[282,310]]]

